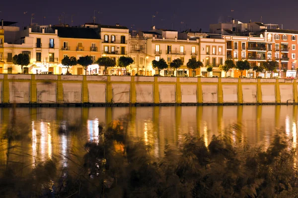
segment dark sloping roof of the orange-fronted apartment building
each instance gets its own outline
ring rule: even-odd
[[[82,27],[53,27],[58,30],[58,36],[63,38],[100,39],[99,34],[92,28]]]

